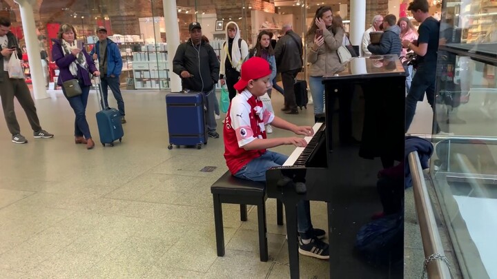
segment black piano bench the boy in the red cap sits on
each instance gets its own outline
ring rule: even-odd
[[[261,262],[268,261],[266,228],[266,185],[250,180],[236,178],[226,172],[212,186],[214,198],[214,221],[216,233],[217,256],[224,256],[224,229],[222,222],[222,204],[240,204],[240,220],[247,220],[246,205],[257,206],[259,223],[259,253]],[[277,200],[277,225],[283,225],[283,205]]]

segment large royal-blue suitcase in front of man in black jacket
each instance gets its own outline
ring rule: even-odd
[[[166,95],[169,146],[207,144],[204,94],[198,92]]]

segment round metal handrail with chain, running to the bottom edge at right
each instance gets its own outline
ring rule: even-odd
[[[442,260],[445,253],[438,234],[433,208],[429,199],[428,189],[425,183],[425,176],[422,174],[422,167],[419,160],[418,152],[409,154],[409,168],[413,181],[414,203],[416,204],[416,213],[420,224],[423,250],[425,251],[425,265],[428,278],[451,278],[449,267]]]

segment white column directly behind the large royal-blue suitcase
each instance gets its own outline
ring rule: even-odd
[[[173,72],[173,58],[179,45],[176,1],[162,1],[162,6],[164,7],[164,23],[166,24],[166,41],[168,44],[169,86],[171,92],[179,92],[182,90],[181,78]]]

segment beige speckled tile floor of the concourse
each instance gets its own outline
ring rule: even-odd
[[[226,172],[224,145],[219,138],[201,150],[168,150],[165,92],[124,92],[123,142],[92,150],[74,144],[72,110],[64,96],[50,95],[35,103],[55,138],[32,138],[19,105],[28,144],[11,143],[0,121],[0,278],[289,278],[275,200],[266,205],[269,262],[259,260],[256,210],[241,222],[237,205],[224,205],[226,256],[217,257],[210,186]],[[273,104],[280,115],[280,94]],[[312,108],[284,118],[309,125]],[[97,110],[92,92],[87,113],[96,139]],[[414,132],[428,133],[423,127]],[[205,166],[217,169],[200,172]],[[326,205],[312,208],[315,227],[327,227]],[[328,263],[301,257],[300,272],[327,278]]]

